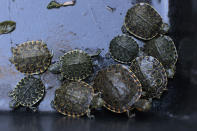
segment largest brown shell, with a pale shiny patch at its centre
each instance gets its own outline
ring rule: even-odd
[[[100,70],[93,87],[102,93],[104,106],[116,113],[131,109],[142,92],[141,84],[135,74],[126,66],[119,64]]]

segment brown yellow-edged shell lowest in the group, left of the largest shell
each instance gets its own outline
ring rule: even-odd
[[[87,113],[93,94],[94,90],[89,84],[73,81],[63,84],[55,91],[53,104],[63,115],[79,117]]]

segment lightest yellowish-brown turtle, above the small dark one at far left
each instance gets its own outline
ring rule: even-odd
[[[13,56],[10,62],[18,71],[25,74],[40,74],[51,64],[53,53],[42,41],[27,41],[11,48]]]

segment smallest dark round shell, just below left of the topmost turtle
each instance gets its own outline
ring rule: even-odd
[[[132,37],[119,35],[111,40],[109,51],[114,60],[120,63],[131,63],[137,57],[139,46]]]

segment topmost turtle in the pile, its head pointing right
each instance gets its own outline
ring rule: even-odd
[[[147,3],[138,3],[131,7],[126,13],[124,26],[130,34],[142,40],[150,40],[169,30],[169,25]]]

